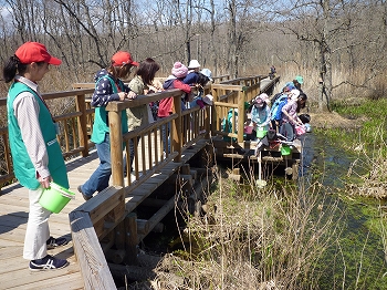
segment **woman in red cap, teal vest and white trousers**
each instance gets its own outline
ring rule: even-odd
[[[38,82],[49,72],[49,65],[61,63],[43,44],[27,42],[3,68],[6,83],[12,81],[7,113],[13,170],[19,183],[29,189],[30,213],[23,258],[30,260],[32,271],[61,269],[69,265],[66,260],[48,255],[48,249],[66,245],[67,240],[50,236],[51,211],[39,204],[51,182],[69,188],[66,167],[56,141],[57,130],[38,90]]]

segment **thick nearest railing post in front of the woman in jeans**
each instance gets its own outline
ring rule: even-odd
[[[121,125],[121,111],[109,111],[108,122],[111,130],[111,160],[112,182],[115,186],[124,187],[124,165],[123,165],[123,132]]]

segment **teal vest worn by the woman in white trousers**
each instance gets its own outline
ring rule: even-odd
[[[20,184],[29,189],[36,189],[40,186],[40,183],[36,179],[36,169],[27,152],[18,120],[13,112],[14,99],[22,92],[30,92],[39,103],[39,124],[49,155],[49,170],[51,177],[54,183],[64,188],[69,188],[66,166],[63,160],[61,147],[56,139],[55,125],[52,121],[50,111],[36,92],[21,82],[12,83],[7,99],[8,132],[14,175]]]

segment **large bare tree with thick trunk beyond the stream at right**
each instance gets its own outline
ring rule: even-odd
[[[352,0],[291,0],[276,1],[273,11],[281,19],[281,31],[290,33],[297,41],[308,42],[310,49],[318,53],[320,63],[320,110],[328,108],[333,90],[343,85],[355,84],[346,79],[339,82],[333,80],[333,68],[345,62],[346,70],[359,69],[357,60],[366,56],[365,43],[373,42],[375,35],[369,35],[366,29],[367,20],[364,11],[369,11],[367,1]],[[362,12],[363,11],[363,12]],[[368,23],[369,24],[369,23]],[[364,33],[362,38],[354,37]],[[369,56],[369,55],[367,55]],[[369,63],[368,63],[369,65]],[[349,74],[348,74],[349,75]]]

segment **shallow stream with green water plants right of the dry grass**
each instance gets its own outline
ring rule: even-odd
[[[351,156],[317,134],[303,138],[303,166],[300,175],[318,179],[327,195],[325,203],[338,201],[339,232],[318,268],[320,289],[387,289],[386,201],[349,196],[345,190],[348,169],[358,156]],[[313,176],[317,173],[317,176]],[[318,174],[323,173],[323,174]],[[342,215],[338,217],[338,215]],[[385,246],[384,246],[385,245]]]

